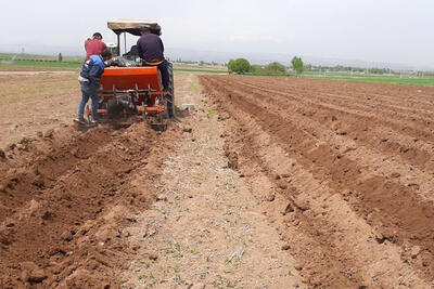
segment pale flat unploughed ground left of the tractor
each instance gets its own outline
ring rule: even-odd
[[[59,129],[77,116],[77,71],[1,71],[0,148],[37,132]]]

